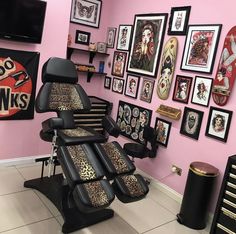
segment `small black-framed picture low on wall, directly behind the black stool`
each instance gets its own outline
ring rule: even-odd
[[[156,118],[155,129],[157,131],[157,143],[167,147],[171,129],[171,122]]]

